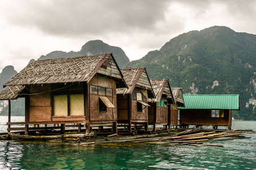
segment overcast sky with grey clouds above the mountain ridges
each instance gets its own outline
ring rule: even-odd
[[[54,50],[77,52],[90,40],[121,47],[130,60],[181,33],[224,25],[256,34],[254,0],[1,0],[0,72],[20,71]]]

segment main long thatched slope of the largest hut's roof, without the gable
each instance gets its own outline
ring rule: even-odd
[[[4,86],[86,82],[112,54],[34,61]]]

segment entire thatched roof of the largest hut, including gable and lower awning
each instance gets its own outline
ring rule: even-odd
[[[127,87],[112,53],[46,59],[28,64],[4,84],[4,87],[9,87],[0,93],[0,100],[16,99],[26,85],[89,82],[96,73],[111,76],[117,80],[118,87]]]

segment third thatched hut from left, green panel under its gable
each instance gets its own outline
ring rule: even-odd
[[[153,125],[153,131],[156,125],[166,126],[168,124],[168,105],[174,104],[171,86],[168,79],[150,79],[155,99],[148,99],[148,125]]]

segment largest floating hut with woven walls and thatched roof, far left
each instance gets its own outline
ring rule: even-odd
[[[60,128],[63,133],[64,127],[76,126],[80,130],[81,125],[87,132],[93,126],[113,126],[117,131],[115,90],[127,85],[109,53],[35,61],[4,87],[0,100],[9,100],[8,131],[25,130],[28,134],[28,130],[42,128]],[[25,122],[10,122],[10,100],[18,97],[25,98]],[[25,127],[11,128],[16,124]]]

